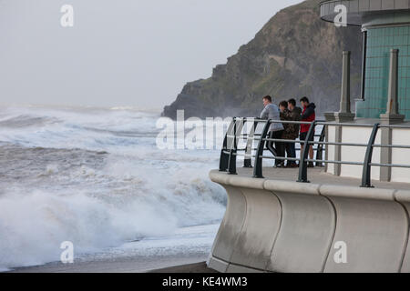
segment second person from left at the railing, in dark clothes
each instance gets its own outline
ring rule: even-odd
[[[283,121],[293,121],[292,120],[292,112],[288,109],[288,102],[282,101],[279,104],[279,109],[281,110],[281,120]],[[283,134],[282,139],[285,140],[295,140],[297,136],[299,136],[299,129],[295,128],[292,124],[283,123]],[[295,135],[296,129],[296,135]],[[295,137],[296,136],[296,137]],[[283,154],[286,152],[286,155],[291,158],[296,158],[296,151],[292,152],[292,147],[294,148],[294,143],[290,142],[283,142]],[[287,161],[286,167],[296,167],[295,161]]]

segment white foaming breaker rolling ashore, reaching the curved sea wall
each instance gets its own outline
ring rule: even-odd
[[[59,175],[56,166],[47,166],[46,172]],[[70,179],[97,176],[101,174],[81,167]],[[111,190],[6,190],[0,196],[0,268],[57,261],[64,241],[73,242],[78,254],[93,253],[146,236],[170,235],[179,227],[220,221],[226,197],[219,186],[201,178],[174,178],[157,184],[160,177],[147,181],[123,174],[126,188],[122,183]]]

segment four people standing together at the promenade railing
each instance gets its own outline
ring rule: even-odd
[[[266,95],[263,97],[264,109],[261,112],[261,119],[294,121],[294,122],[314,122],[316,119],[314,103],[310,103],[307,97],[302,97],[300,100],[302,108],[296,105],[295,99],[282,101],[279,105],[272,102],[272,96]],[[272,123],[269,128],[269,139],[283,140],[268,141],[267,148],[273,156],[296,158],[296,143],[286,142],[285,140],[296,140],[298,137],[301,141],[305,141],[310,130],[309,124],[287,124],[287,123]],[[309,140],[313,142],[314,136]],[[303,148],[303,143],[301,147]],[[313,160],[313,145],[309,148],[309,156]],[[294,160],[285,161],[281,159],[275,160],[276,167],[298,167],[299,165]],[[310,162],[309,167],[314,167],[313,162]]]

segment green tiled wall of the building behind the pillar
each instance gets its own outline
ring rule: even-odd
[[[399,113],[410,119],[410,26],[368,30],[364,101],[356,104],[357,117],[385,113],[392,48],[399,49]]]

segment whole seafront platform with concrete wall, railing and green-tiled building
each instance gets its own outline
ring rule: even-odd
[[[409,3],[320,4],[323,20],[338,22],[345,7],[344,25],[362,26],[362,95],[354,96],[355,112],[351,52],[344,51],[340,111],[325,114],[326,121],[233,118],[220,169],[210,172],[228,194],[210,268],[410,273]],[[273,123],[309,125],[310,130],[302,141],[273,139]],[[267,143],[301,144],[302,149],[297,157],[272,156]],[[311,146],[315,158],[309,157]],[[273,160],[298,162],[299,168],[273,168]],[[308,167],[312,163],[319,167]]]

